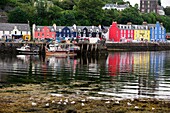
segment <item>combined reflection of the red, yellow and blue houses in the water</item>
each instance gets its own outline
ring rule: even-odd
[[[128,95],[137,94],[139,97],[155,97],[161,86],[160,75],[164,74],[166,52],[117,52],[109,54],[107,59],[108,71],[119,83],[117,91]],[[127,78],[126,75],[130,78]],[[131,82],[133,81],[133,82]],[[162,91],[160,91],[162,93]]]

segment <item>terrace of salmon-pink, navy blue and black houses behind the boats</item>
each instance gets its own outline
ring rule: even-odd
[[[33,24],[33,39],[58,39],[58,38],[89,38],[89,37],[102,37],[101,26],[36,26]]]

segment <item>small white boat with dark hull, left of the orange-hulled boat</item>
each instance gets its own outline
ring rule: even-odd
[[[16,48],[18,54],[39,54],[38,48],[31,48],[29,45],[24,45],[20,48]]]

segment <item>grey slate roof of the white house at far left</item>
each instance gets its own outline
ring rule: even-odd
[[[29,24],[21,23],[0,23],[0,31],[12,31],[15,26],[19,31],[30,31]]]

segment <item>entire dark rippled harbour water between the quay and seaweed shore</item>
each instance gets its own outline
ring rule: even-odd
[[[0,55],[0,86],[46,84],[55,93],[170,99],[170,51],[56,58]]]

